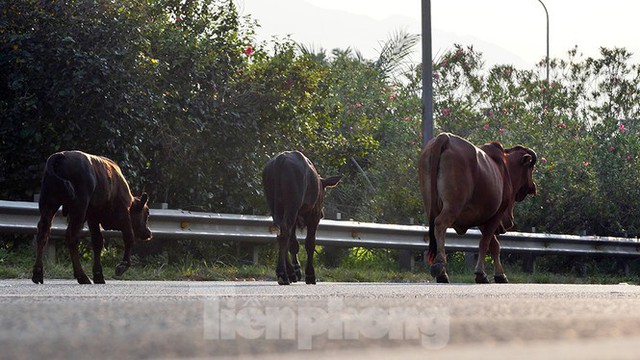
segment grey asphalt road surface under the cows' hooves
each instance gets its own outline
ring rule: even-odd
[[[640,359],[640,286],[0,280],[1,359]]]

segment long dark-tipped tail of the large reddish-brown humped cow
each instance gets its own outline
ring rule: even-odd
[[[442,151],[449,143],[449,136],[440,135],[432,140],[425,147],[422,154],[420,166],[420,187],[422,190],[422,200],[424,202],[427,221],[429,222],[429,250],[427,250],[426,260],[429,264],[433,264],[436,253],[438,252],[438,243],[435,235],[435,219],[438,213],[438,167],[440,166],[440,156]],[[427,173],[429,178],[427,179]],[[428,182],[428,186],[427,186]]]

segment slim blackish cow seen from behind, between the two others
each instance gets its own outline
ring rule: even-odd
[[[296,238],[296,228],[307,228],[305,249],[307,266],[305,282],[316,283],[313,254],[316,244],[316,230],[323,217],[323,203],[327,188],[338,184],[342,176],[323,179],[318,175],[313,163],[299,151],[286,151],[271,158],[262,172],[267,204],[277,229],[278,260],[276,278],[278,284],[289,285],[302,279]],[[293,264],[289,261],[291,253]]]

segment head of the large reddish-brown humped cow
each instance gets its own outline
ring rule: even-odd
[[[535,151],[523,146],[506,149],[507,167],[515,191],[516,201],[520,202],[527,195],[535,195],[536,183],[533,181],[533,167],[538,160]]]

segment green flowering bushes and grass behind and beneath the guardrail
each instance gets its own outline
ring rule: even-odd
[[[152,202],[267,214],[262,166],[298,149],[321,175],[344,174],[329,192],[327,217],[423,222],[422,74],[411,59],[418,36],[390,34],[379,57],[366,59],[356,49],[310,49],[287,37],[259,43],[258,25],[228,0],[0,0],[0,199],[31,201],[48,155],[81,149],[114,159],[133,191],[148,192]],[[567,50],[551,59],[549,82],[544,61],[487,68],[471,46],[440,54],[433,59],[435,133],[536,150],[538,196],[517,206],[516,230],[637,238],[639,54]],[[30,241],[0,236],[0,276],[29,277]],[[140,253],[126,276],[272,276],[270,259],[246,265],[235,246],[165,244]],[[118,258],[111,251],[105,259]],[[429,279],[421,266],[390,271],[397,264],[385,263],[384,252],[352,253],[338,267],[321,260],[318,273],[336,281]],[[47,267],[48,277],[67,276],[63,256],[58,270]],[[583,270],[571,270],[576,259],[555,261],[554,275],[542,265],[534,275],[507,266],[508,275],[516,282],[571,281],[564,273],[584,279]],[[453,262],[452,280],[466,281]],[[579,263],[591,279],[616,281],[598,275],[617,274],[612,259]],[[636,267],[630,274],[637,276]]]

